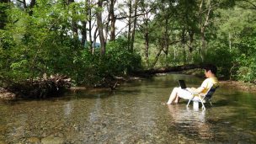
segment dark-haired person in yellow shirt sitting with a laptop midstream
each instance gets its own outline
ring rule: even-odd
[[[193,93],[206,93],[209,88],[213,85],[217,87],[219,81],[216,77],[217,68],[214,65],[208,64],[205,65],[205,81],[201,84],[199,88],[173,88],[173,92],[171,93],[167,104],[178,104],[179,98],[182,99],[191,99],[193,97]]]

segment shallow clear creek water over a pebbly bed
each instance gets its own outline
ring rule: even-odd
[[[206,110],[164,105],[178,79],[168,74],[124,83],[115,93],[67,93],[45,100],[0,101],[0,144],[5,143],[255,143],[256,96],[222,86]]]

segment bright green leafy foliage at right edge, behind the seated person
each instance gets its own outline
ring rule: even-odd
[[[218,40],[222,45],[226,45],[222,46],[223,50],[226,49],[231,52],[231,56],[225,56],[227,63],[232,65],[232,71],[234,71],[232,78],[244,82],[255,82],[255,12],[235,7],[226,11],[222,10],[220,13],[221,24]],[[226,65],[223,67],[225,69],[230,68]]]

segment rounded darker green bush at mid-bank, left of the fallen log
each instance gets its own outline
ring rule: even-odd
[[[74,61],[77,84],[106,86],[115,76],[126,75],[141,67],[141,56],[128,51],[127,42],[121,39],[109,42],[104,56],[100,56],[99,49],[94,54],[88,49],[79,53]]]

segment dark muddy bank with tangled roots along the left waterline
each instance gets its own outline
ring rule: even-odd
[[[70,88],[71,78],[59,74],[35,79],[24,80],[19,83],[4,83],[0,87],[0,99],[45,99],[59,96]]]

